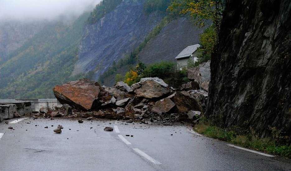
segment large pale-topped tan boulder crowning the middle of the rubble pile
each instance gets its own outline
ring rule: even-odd
[[[168,85],[157,77],[155,78],[142,78],[140,82],[132,85],[134,93],[138,97],[145,98],[159,98],[171,92]]]

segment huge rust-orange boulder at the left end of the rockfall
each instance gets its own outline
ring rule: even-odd
[[[76,109],[82,110],[90,110],[93,107],[96,108],[97,104],[100,105],[100,103],[112,98],[98,83],[88,79],[70,81],[63,85],[56,85],[53,91],[55,97],[61,104],[69,104]]]

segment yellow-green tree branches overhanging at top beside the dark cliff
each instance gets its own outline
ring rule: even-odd
[[[178,8],[181,14],[190,14],[201,26],[204,26],[206,20],[212,20],[218,35],[224,7],[225,0],[174,0],[169,9],[172,11]]]

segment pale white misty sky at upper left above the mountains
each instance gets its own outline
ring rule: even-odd
[[[93,10],[101,0],[0,0],[0,20],[55,20]]]

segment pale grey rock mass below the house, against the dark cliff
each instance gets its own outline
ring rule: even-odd
[[[201,63],[198,67],[188,68],[187,75],[190,80],[197,81],[201,89],[208,91],[210,82],[210,61]]]

